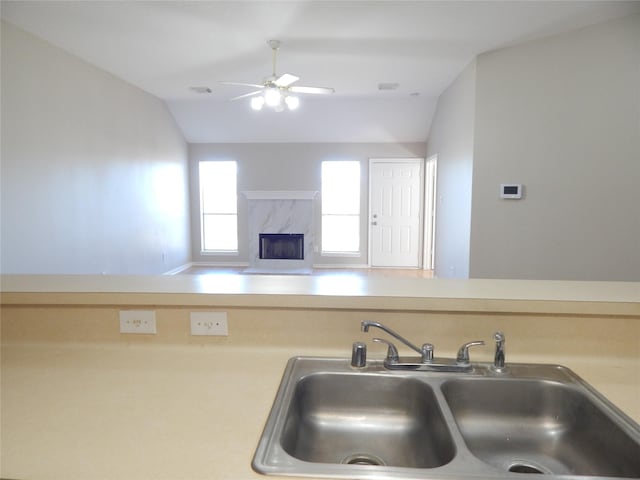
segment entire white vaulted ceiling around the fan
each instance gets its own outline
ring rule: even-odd
[[[6,21],[163,99],[188,142],[425,141],[438,96],[478,54],[639,11],[609,0],[1,3]],[[283,113],[229,102],[250,89],[217,82],[261,83],[269,39],[283,42],[279,74],[335,94]]]

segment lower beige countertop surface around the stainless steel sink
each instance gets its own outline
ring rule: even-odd
[[[250,465],[291,356],[194,345],[5,346],[2,476],[274,478]],[[640,420],[640,384],[625,385],[615,361],[559,360]]]

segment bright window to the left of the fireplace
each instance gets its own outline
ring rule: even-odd
[[[236,162],[200,162],[202,251],[238,251]]]

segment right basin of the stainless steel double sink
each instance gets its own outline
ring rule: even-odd
[[[499,470],[640,476],[637,435],[574,385],[464,379],[442,392],[467,447]]]

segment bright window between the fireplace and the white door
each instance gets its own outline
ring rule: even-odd
[[[360,251],[360,162],[322,162],[322,252]]]

